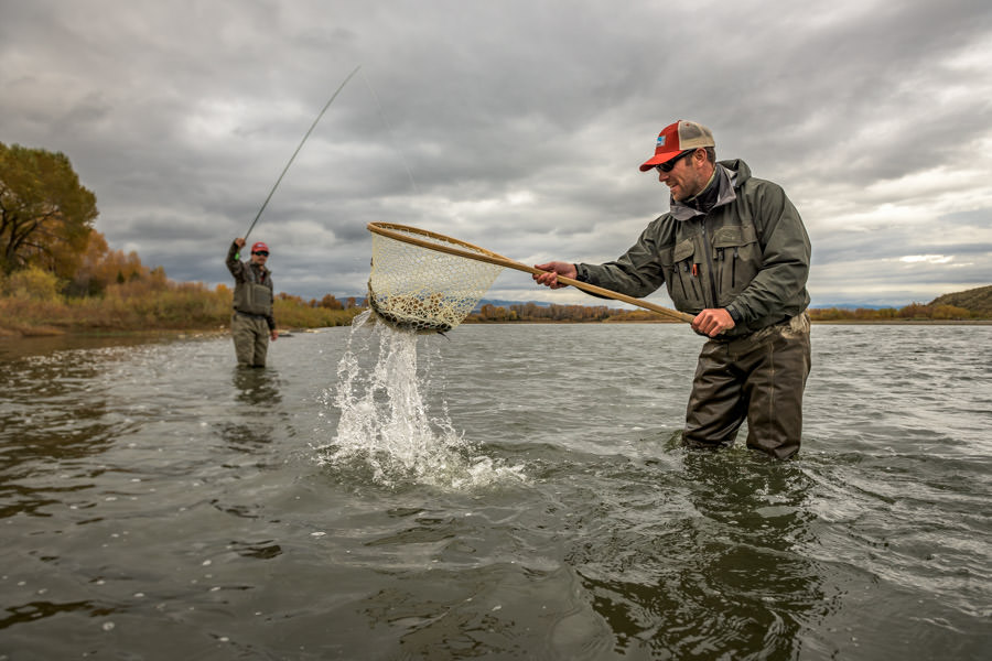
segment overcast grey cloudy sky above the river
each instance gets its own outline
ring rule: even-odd
[[[988,0],[0,0],[0,142],[63,152],[170,279],[364,296],[370,221],[601,263],[668,209],[678,119],[786,191],[813,306],[992,284]],[[488,299],[597,305],[505,271]],[[662,291],[648,300],[670,305]]]

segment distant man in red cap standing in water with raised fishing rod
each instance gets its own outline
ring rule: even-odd
[[[237,238],[227,251],[227,269],[235,277],[230,334],[239,366],[265,367],[269,338],[276,342],[279,337],[272,317],[272,272],[266,268],[269,247],[258,241],[251,246],[251,259],[242,262],[244,247],[245,239]]]

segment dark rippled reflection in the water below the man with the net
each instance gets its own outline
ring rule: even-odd
[[[816,543],[799,466],[746,451],[678,451],[679,469],[625,466],[569,555],[615,651],[650,658],[799,655],[834,599],[805,553]],[[833,606],[835,607],[835,606]]]

